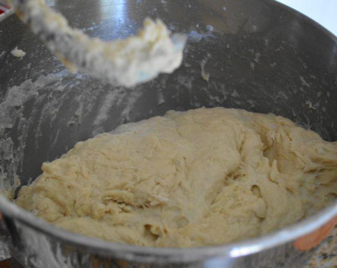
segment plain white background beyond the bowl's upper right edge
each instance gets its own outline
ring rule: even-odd
[[[327,28],[337,35],[337,0],[278,0]]]

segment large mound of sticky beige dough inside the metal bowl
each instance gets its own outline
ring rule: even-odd
[[[155,247],[224,244],[282,228],[337,194],[337,143],[273,114],[169,111],[43,163],[16,203],[52,224]]]

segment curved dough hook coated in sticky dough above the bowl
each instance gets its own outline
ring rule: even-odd
[[[43,0],[9,0],[21,20],[72,71],[81,70],[113,85],[133,86],[171,73],[182,62],[186,36],[170,35],[159,19],[145,19],[144,28],[126,39],[102,41],[52,11]]]

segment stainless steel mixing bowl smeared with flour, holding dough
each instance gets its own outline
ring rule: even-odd
[[[15,15],[0,17],[1,188],[40,174],[75,142],[167,110],[273,112],[337,140],[337,39],[269,0],[51,0],[72,26],[103,39],[135,33],[146,16],[188,35],[172,75],[132,89],[70,73]],[[27,54],[14,58],[18,46]],[[204,78],[201,75],[204,66]],[[209,81],[205,74],[209,73]],[[206,80],[205,80],[206,78]],[[54,228],[3,196],[1,235],[25,267],[300,267],[293,242],[337,215],[337,203],[264,237],[223,246],[145,248]]]

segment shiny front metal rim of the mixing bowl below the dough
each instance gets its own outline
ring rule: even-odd
[[[270,234],[248,240],[229,243],[225,245],[195,247],[195,248],[156,248],[133,246],[108,242],[96,238],[82,236],[57,228],[47,221],[34,216],[32,213],[20,208],[9,201],[4,195],[0,195],[0,210],[5,217],[16,219],[30,228],[45,235],[62,240],[76,246],[90,248],[101,255],[122,257],[127,260],[139,260],[148,258],[164,258],[174,262],[197,261],[210,257],[235,258],[254,254],[280,244],[295,240],[311,233],[326,224],[337,215],[337,201],[328,207],[318,211],[304,220],[289,225]]]

